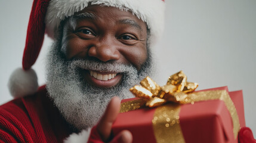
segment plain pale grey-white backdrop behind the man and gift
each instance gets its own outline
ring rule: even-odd
[[[0,104],[12,99],[8,77],[21,67],[32,0],[0,0]],[[243,90],[246,126],[256,135],[256,1],[166,0],[166,24],[154,51],[155,79],[164,85],[168,76],[183,70],[199,89],[229,86]],[[51,40],[44,45],[33,69],[39,85],[45,83],[44,61]]]

